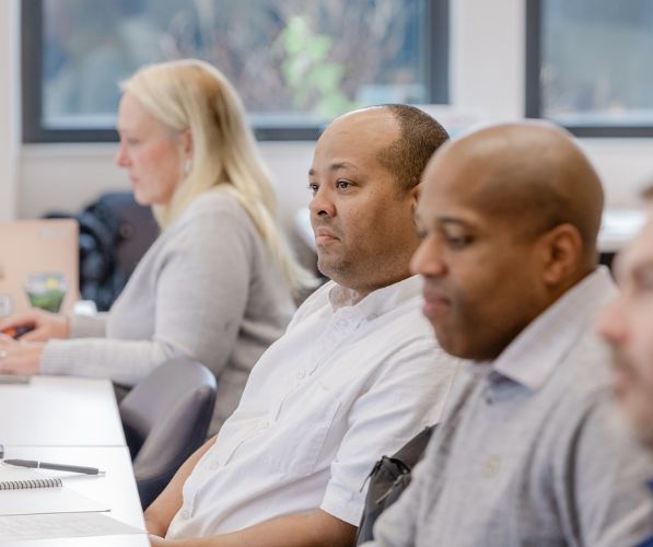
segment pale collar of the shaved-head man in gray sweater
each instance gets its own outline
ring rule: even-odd
[[[509,379],[537,391],[562,356],[592,327],[596,310],[614,294],[608,269],[599,266],[520,333],[492,363],[490,380]]]

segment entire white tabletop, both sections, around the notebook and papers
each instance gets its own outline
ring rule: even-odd
[[[97,467],[104,476],[75,476],[65,487],[98,502],[112,517],[144,531],[129,450],[110,382],[35,376],[0,384],[0,443],[5,458]],[[35,496],[38,490],[34,490]],[[147,534],[38,539],[3,547],[145,547]]]

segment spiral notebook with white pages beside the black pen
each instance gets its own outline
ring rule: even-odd
[[[97,480],[89,477],[89,480]],[[66,476],[0,462],[0,515],[108,511],[63,485]]]

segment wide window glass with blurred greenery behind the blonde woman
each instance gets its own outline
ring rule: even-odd
[[[185,57],[224,72],[259,128],[433,102],[430,1],[43,0],[40,126],[113,127],[120,80]]]

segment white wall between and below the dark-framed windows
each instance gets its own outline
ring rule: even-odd
[[[451,1],[453,104],[483,120],[521,117],[525,0]],[[16,15],[18,10],[10,8],[15,2],[0,1],[0,78],[4,82],[19,78],[11,53],[18,39],[16,26],[10,21]],[[16,105],[11,90],[0,86],[0,119],[13,116]],[[7,143],[18,140],[18,118],[13,126],[0,124],[0,218],[77,210],[101,191],[127,187],[125,176],[113,165],[112,146],[24,146],[16,165]],[[653,181],[653,140],[585,139],[582,143],[603,175],[608,206],[637,206],[639,188]],[[313,144],[263,143],[261,149],[277,178],[281,212],[289,219],[308,199],[306,171]]]

